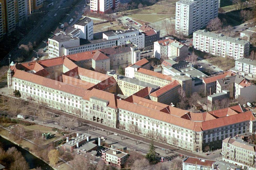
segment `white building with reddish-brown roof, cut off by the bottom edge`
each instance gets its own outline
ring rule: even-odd
[[[214,170],[215,161],[187,157],[182,161],[183,170]]]

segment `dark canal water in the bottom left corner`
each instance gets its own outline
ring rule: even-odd
[[[4,150],[7,150],[8,148],[15,147],[18,151],[21,152],[21,154],[24,156],[26,161],[28,162],[28,165],[30,169],[41,167],[43,170],[45,169],[52,169],[47,163],[42,161],[41,159],[38,159],[36,156],[32,155],[25,149],[22,149],[21,147],[15,145],[13,142],[10,142],[9,140],[6,140],[0,136],[0,143]]]

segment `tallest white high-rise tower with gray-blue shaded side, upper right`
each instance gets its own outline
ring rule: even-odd
[[[189,35],[218,16],[218,0],[180,0],[176,2],[175,30]]]

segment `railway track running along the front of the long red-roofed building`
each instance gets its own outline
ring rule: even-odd
[[[4,96],[4,95],[0,95],[0,96]],[[4,96],[4,97],[6,99],[10,98],[9,96]],[[26,102],[30,102],[30,101],[26,101]],[[45,106],[42,106],[42,107],[45,107]],[[47,109],[48,112],[52,112],[52,113],[58,114],[58,115],[65,115],[65,117],[68,117],[68,118],[71,118],[71,119],[76,117],[76,116],[70,115],[68,113],[62,112],[60,110],[55,110],[55,109],[48,108],[48,107],[45,107],[45,108]],[[142,137],[142,136],[134,135],[134,134],[131,134],[129,132],[126,132],[126,131],[123,131],[123,130],[120,130],[120,129],[116,129],[116,128],[108,127],[108,126],[105,126],[105,125],[101,125],[101,124],[98,124],[98,123],[95,123],[95,122],[92,122],[92,121],[82,119],[80,117],[76,117],[76,119],[79,120],[80,122],[83,122],[83,123],[86,123],[86,124],[91,124],[95,127],[101,128],[101,129],[109,130],[112,133],[114,133],[114,132],[119,133],[120,135],[126,136],[128,138],[143,141],[144,143],[150,144],[152,142],[151,139],[147,139],[147,138]],[[158,148],[169,149],[173,152],[182,154],[184,156],[191,156],[191,157],[196,157],[196,158],[201,158],[201,159],[209,159],[206,156],[202,156],[202,155],[191,153],[191,152],[188,152],[188,151],[185,151],[185,150],[182,150],[182,149],[178,149],[178,148],[175,148],[173,146],[166,145],[164,143],[160,143],[160,142],[156,142],[156,141],[153,141],[153,142],[154,142],[154,146],[156,146]]]

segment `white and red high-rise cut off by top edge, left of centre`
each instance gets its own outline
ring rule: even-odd
[[[120,0],[91,0],[90,3],[91,12],[105,13],[110,9],[118,7]]]

